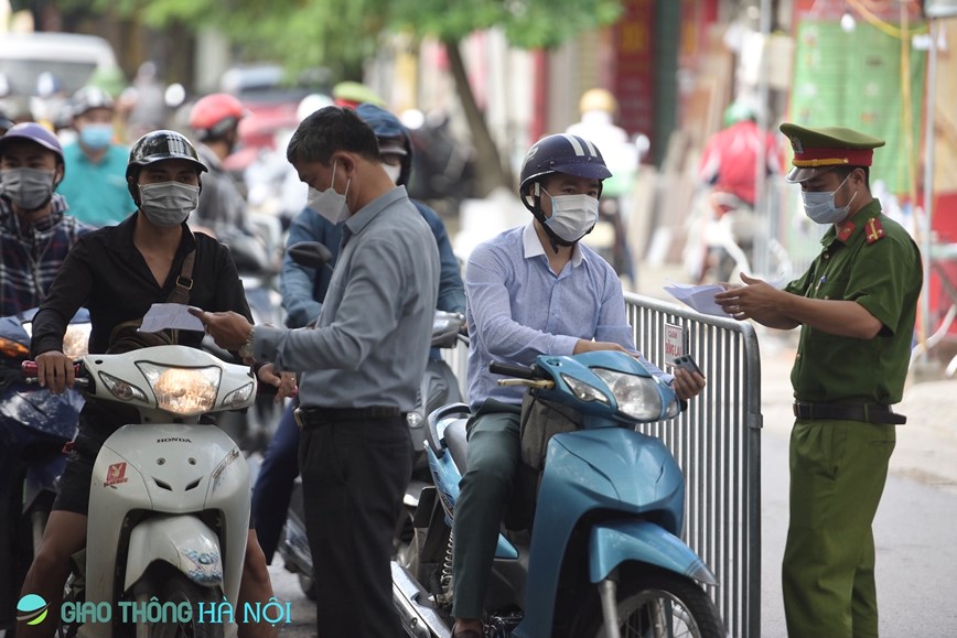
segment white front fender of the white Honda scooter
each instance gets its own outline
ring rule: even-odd
[[[129,591],[157,561],[173,565],[197,585],[212,587],[223,584],[219,539],[196,517],[148,518],[133,528],[129,548],[125,591]]]

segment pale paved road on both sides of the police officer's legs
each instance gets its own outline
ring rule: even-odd
[[[762,638],[785,638],[779,565],[787,530],[789,339],[762,333]],[[939,379],[939,376],[936,377]],[[884,638],[957,636],[957,380],[908,382],[874,522]]]

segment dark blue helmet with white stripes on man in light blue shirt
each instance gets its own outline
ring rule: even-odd
[[[519,175],[518,196],[528,208],[553,244],[570,246],[545,224],[546,217],[541,209],[541,190],[536,185],[553,173],[587,177],[591,180],[607,180],[612,172],[605,165],[604,158],[598,147],[569,133],[558,133],[538,140],[525,155]],[[601,197],[601,184],[599,184]]]

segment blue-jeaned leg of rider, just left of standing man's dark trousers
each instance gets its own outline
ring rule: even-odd
[[[292,415],[295,408],[298,403],[293,401],[286,407],[252,486],[252,520],[267,564],[272,564],[272,554],[286,525],[292,485],[299,475],[299,426]]]

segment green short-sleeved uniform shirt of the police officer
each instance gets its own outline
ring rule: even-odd
[[[907,376],[921,253],[904,228],[874,199],[821,239],[824,251],[787,292],[861,304],[883,324],[872,339],[802,326],[791,382],[798,401],[900,402]]]

